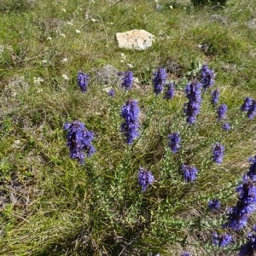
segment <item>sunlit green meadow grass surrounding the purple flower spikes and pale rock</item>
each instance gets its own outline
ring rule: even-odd
[[[241,112],[245,97],[256,98],[256,2],[158,3],[0,0],[0,255],[237,255],[247,242],[255,214],[241,230],[223,224],[256,154],[255,117]],[[153,46],[119,49],[115,33],[131,29],[154,34]],[[184,89],[203,64],[215,83],[188,125]],[[154,94],[159,67],[175,82],[172,100]],[[131,90],[115,68],[134,73]],[[90,75],[84,93],[79,71]],[[212,107],[216,89],[230,131]],[[120,131],[129,99],[140,110],[131,145]],[[63,130],[75,120],[95,134],[84,165],[70,159]],[[177,154],[168,147],[173,132]],[[225,147],[221,164],[212,161],[215,143]],[[184,181],[183,164],[199,170],[194,182]],[[140,167],[154,175],[144,192]],[[214,198],[221,207],[211,212]],[[230,234],[229,247],[214,246],[214,233]]]

